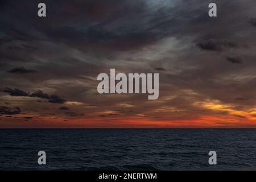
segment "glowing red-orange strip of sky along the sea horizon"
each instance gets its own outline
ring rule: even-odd
[[[255,120],[237,119],[231,116],[202,116],[191,120],[121,119],[121,118],[80,118],[69,119],[33,119],[19,121],[6,118],[1,128],[233,128],[256,127]]]

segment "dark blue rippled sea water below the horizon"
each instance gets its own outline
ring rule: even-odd
[[[40,150],[46,166],[38,165]],[[0,169],[254,170],[256,130],[0,129]]]

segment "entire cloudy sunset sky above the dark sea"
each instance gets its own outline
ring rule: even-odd
[[[0,128],[256,127],[255,35],[255,0],[1,0]],[[99,94],[110,68],[158,100]]]

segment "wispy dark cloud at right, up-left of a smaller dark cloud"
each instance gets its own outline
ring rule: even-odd
[[[196,44],[196,46],[200,47],[205,51],[222,51],[225,48],[235,48],[237,45],[228,40],[204,40]]]

